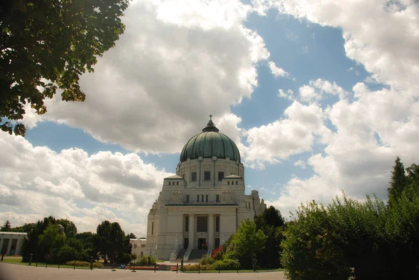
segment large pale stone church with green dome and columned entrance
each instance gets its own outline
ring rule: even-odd
[[[186,142],[176,175],[165,178],[149,211],[146,254],[192,260],[226,242],[242,220],[266,208],[258,191],[244,194],[240,152],[212,122]]]

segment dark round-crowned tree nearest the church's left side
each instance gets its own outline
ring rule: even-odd
[[[98,251],[107,255],[111,263],[129,261],[131,244],[117,222],[102,221],[96,229],[95,244]]]

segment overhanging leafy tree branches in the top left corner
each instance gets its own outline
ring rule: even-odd
[[[24,105],[45,114],[57,88],[66,101],[84,101],[79,77],[125,26],[129,0],[3,0],[0,2],[0,128],[24,136]]]

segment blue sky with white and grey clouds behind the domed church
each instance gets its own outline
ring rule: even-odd
[[[47,215],[145,235],[163,178],[214,115],[246,191],[285,217],[344,190],[385,199],[397,155],[419,163],[414,0],[134,0],[85,102],[30,109],[0,133],[0,222]]]

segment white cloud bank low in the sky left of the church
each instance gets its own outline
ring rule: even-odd
[[[7,151],[0,154],[0,221],[14,226],[53,215],[71,219],[79,231],[96,231],[109,219],[144,236],[147,212],[172,175],[133,153],[56,153],[6,133],[0,144]]]

